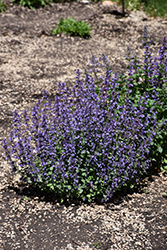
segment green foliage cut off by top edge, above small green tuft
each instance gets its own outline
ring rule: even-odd
[[[13,3],[19,4],[23,7],[28,7],[30,9],[44,7],[49,4],[50,0],[13,0]]]

